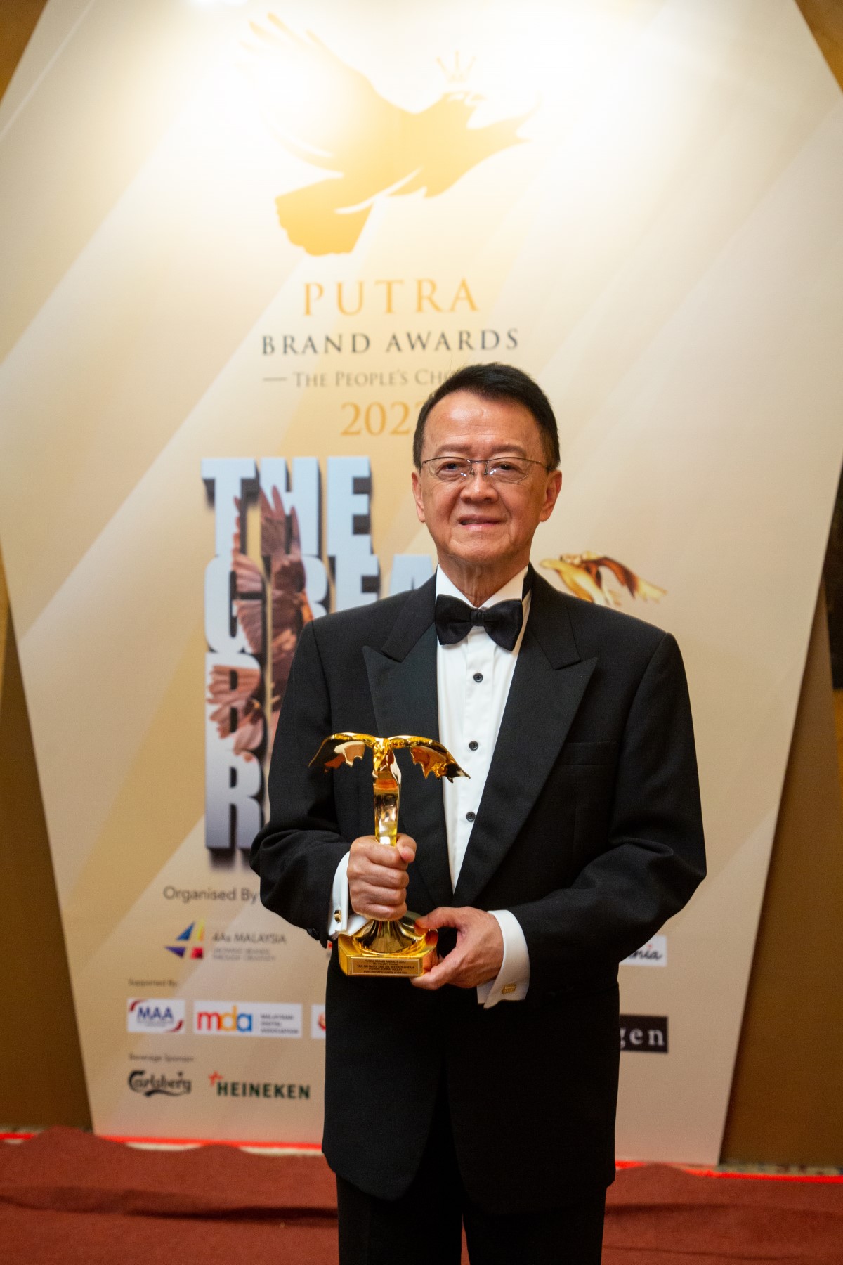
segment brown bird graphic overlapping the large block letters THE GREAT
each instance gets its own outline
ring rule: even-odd
[[[236,524],[231,544],[231,571],[235,577],[234,608],[252,654],[264,659],[265,587],[255,562],[243,553],[240,541],[241,505],[235,498]],[[272,703],[269,753],[278,727],[278,715],[302,627],[313,619],[305,588],[298,520],[287,515],[278,488],[272,502],[260,492],[260,553],[268,562],[272,619]],[[234,677],[234,682],[233,682]],[[215,665],[209,684],[209,703],[215,707],[211,720],[220,737],[234,734],[234,751],[252,758],[264,739],[263,673],[257,668]]]

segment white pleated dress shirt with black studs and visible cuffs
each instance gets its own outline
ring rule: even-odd
[[[522,596],[525,567],[483,606],[493,606]],[[440,593],[468,601],[450,582],[442,569],[436,572],[436,596]],[[492,754],[507,705],[512,674],[530,615],[530,593],[523,598],[525,621],[512,650],[504,650],[483,627],[473,627],[456,645],[436,646],[436,696],[439,703],[439,740],[470,777],[442,779],[445,830],[451,885],[456,887],[463,858],[469,846],[474,817],[480,806],[489,773]],[[470,603],[469,603],[470,605]],[[354,913],[349,903],[349,854],[343,858],[334,877],[329,935],[354,935],[365,918]],[[499,1001],[518,1002],[530,987],[530,954],[521,925],[509,910],[492,910],[503,935],[503,963],[493,980],[478,985],[478,1002],[487,1008]],[[337,917],[339,915],[339,917]]]

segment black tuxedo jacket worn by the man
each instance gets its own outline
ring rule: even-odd
[[[263,903],[326,941],[334,873],[373,829],[372,781],[308,768],[329,734],[439,736],[435,579],[302,634],[254,841]],[[403,753],[402,753],[403,758]],[[380,1198],[409,1185],[445,1075],[469,1195],[498,1212],[571,1202],[614,1178],[618,963],[705,873],[685,673],[675,640],[535,578],[471,837],[451,889],[441,783],[407,760],[407,903],[512,910],[522,1002],[327,970],[324,1150]]]

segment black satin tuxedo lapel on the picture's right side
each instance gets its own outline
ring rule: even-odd
[[[527,629],[454,904],[478,899],[514,842],[556,762],[595,664],[597,659],[580,659],[566,600],[536,577]]]

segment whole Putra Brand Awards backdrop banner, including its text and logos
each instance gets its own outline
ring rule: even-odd
[[[318,1144],[326,954],[248,867],[278,707],[305,621],[431,574],[418,406],[503,359],[560,421],[536,567],[685,657],[710,877],[621,969],[618,1145],[715,1161],[843,449],[796,5],[49,0],[0,183],[0,541],[96,1130]]]

